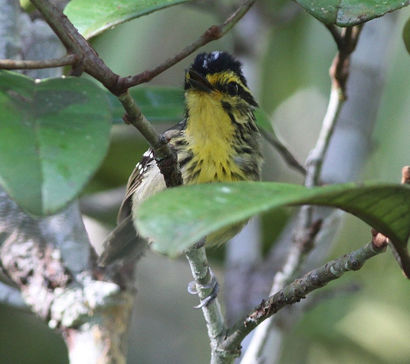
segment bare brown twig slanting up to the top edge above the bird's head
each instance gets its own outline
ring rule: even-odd
[[[206,32],[204,32],[197,40],[185,47],[181,52],[175,56],[168,58],[162,64],[154,67],[151,70],[146,70],[138,75],[124,77],[119,80],[122,88],[128,88],[131,86],[139,85],[144,82],[152,80],[155,76],[168,70],[174,64],[188,57],[193,52],[197,51],[203,45],[208,44],[213,40],[217,40],[224,36],[246,12],[252,7],[256,0],[247,0],[244,2],[233,14],[231,14],[223,24],[219,26],[212,26]]]

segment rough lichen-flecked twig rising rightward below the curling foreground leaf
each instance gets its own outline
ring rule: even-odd
[[[386,251],[387,241],[373,241],[357,251],[341,256],[324,266],[314,269],[300,279],[293,281],[255,308],[245,319],[238,321],[228,329],[220,347],[235,347],[261,322],[285,306],[299,302],[317,288],[340,278],[347,271],[360,269],[365,262]]]

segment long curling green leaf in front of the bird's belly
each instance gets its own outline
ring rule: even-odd
[[[337,207],[367,222],[391,239],[403,269],[410,273],[407,185],[350,183],[308,189],[283,183],[236,182],[183,186],[144,201],[136,224],[142,236],[153,241],[156,251],[175,256],[224,226],[270,209],[300,204]]]

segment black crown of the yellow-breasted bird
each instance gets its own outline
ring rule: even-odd
[[[199,53],[191,65],[202,76],[223,71],[235,72],[241,82],[247,87],[245,77],[242,74],[242,63],[226,52],[214,51]]]

